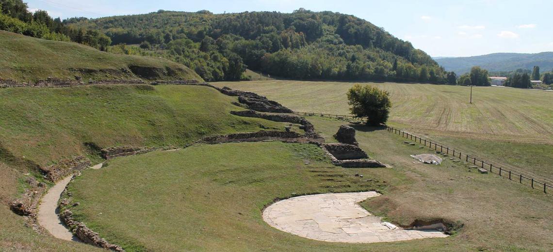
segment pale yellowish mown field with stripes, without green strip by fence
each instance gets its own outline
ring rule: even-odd
[[[349,114],[349,82],[215,82],[265,95],[294,111]],[[389,122],[418,133],[553,144],[553,92],[502,87],[367,83],[392,96]]]

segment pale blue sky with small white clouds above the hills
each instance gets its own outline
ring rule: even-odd
[[[53,17],[105,17],[158,9],[213,13],[305,8],[353,14],[431,56],[553,51],[551,0],[28,0]]]

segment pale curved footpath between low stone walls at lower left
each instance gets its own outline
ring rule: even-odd
[[[100,169],[102,164],[98,164],[90,167],[90,169]],[[79,242],[79,238],[75,237],[67,227],[60,221],[58,216],[58,201],[60,200],[61,193],[64,192],[65,187],[71,181],[73,175],[65,177],[65,179],[60,180],[54,185],[46,195],[41,199],[39,208],[38,208],[38,223],[55,238],[62,240],[74,240]]]

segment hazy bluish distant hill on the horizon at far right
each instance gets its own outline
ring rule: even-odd
[[[462,74],[471,70],[472,66],[481,66],[492,72],[514,71],[517,69],[532,69],[539,66],[542,71],[553,69],[553,52],[538,54],[497,53],[472,57],[434,57],[446,71]]]

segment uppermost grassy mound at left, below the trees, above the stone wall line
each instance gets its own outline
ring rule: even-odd
[[[62,80],[195,80],[188,67],[166,59],[110,54],[71,42],[36,39],[0,30],[0,78],[36,82]]]

